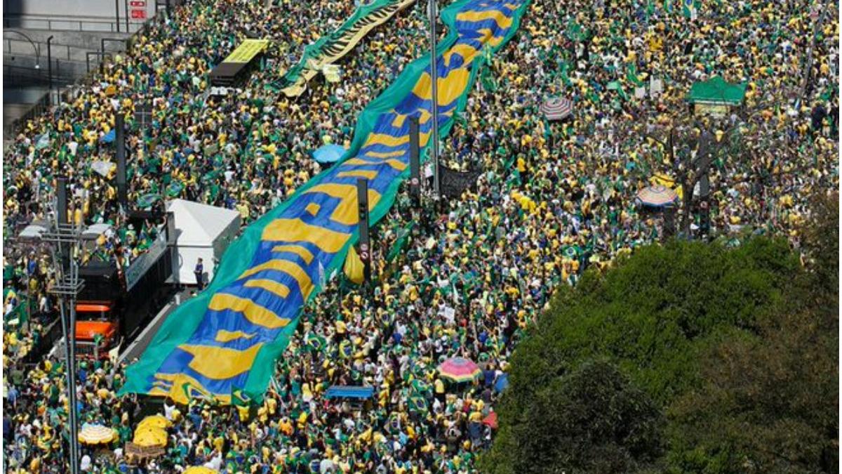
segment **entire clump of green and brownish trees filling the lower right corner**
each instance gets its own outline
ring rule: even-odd
[[[803,229],[808,271],[786,240],[674,241],[560,289],[482,471],[836,471],[834,200]]]

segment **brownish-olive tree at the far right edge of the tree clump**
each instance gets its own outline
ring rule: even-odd
[[[699,390],[679,397],[674,471],[839,470],[839,200],[819,197],[804,230],[813,260],[757,337],[704,354]]]

